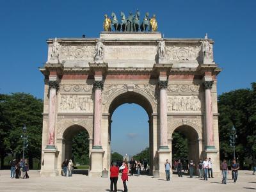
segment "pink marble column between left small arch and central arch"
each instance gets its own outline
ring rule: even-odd
[[[101,92],[103,89],[102,81],[95,81],[94,84],[94,120],[93,120],[93,148],[102,148],[101,146],[101,118],[102,118],[102,98]]]

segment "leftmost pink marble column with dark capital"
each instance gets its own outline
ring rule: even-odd
[[[48,147],[55,145],[56,93],[58,88],[58,81],[49,81],[49,133],[47,142]]]

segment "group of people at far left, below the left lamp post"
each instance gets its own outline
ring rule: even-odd
[[[28,179],[28,161],[27,159],[13,159],[10,161],[11,166],[11,178],[15,179]]]

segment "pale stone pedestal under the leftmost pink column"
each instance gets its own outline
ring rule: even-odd
[[[50,145],[51,146],[51,145]],[[41,169],[41,177],[56,177],[59,175],[57,170],[58,150],[52,147],[46,147],[44,150],[44,166]]]

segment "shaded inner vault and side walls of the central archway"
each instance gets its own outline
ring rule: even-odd
[[[111,101],[109,105],[109,148],[111,148],[111,119],[114,111],[116,108],[121,106],[122,104],[138,104],[143,109],[145,109],[147,116],[148,116],[148,140],[149,140],[149,172],[152,174],[153,170],[153,159],[154,159],[154,150],[153,150],[153,126],[152,126],[152,113],[153,108],[150,102],[146,97],[141,95],[140,93],[136,92],[125,92],[121,93],[120,95],[116,96],[115,99]],[[109,163],[110,163],[110,156],[109,156]]]

